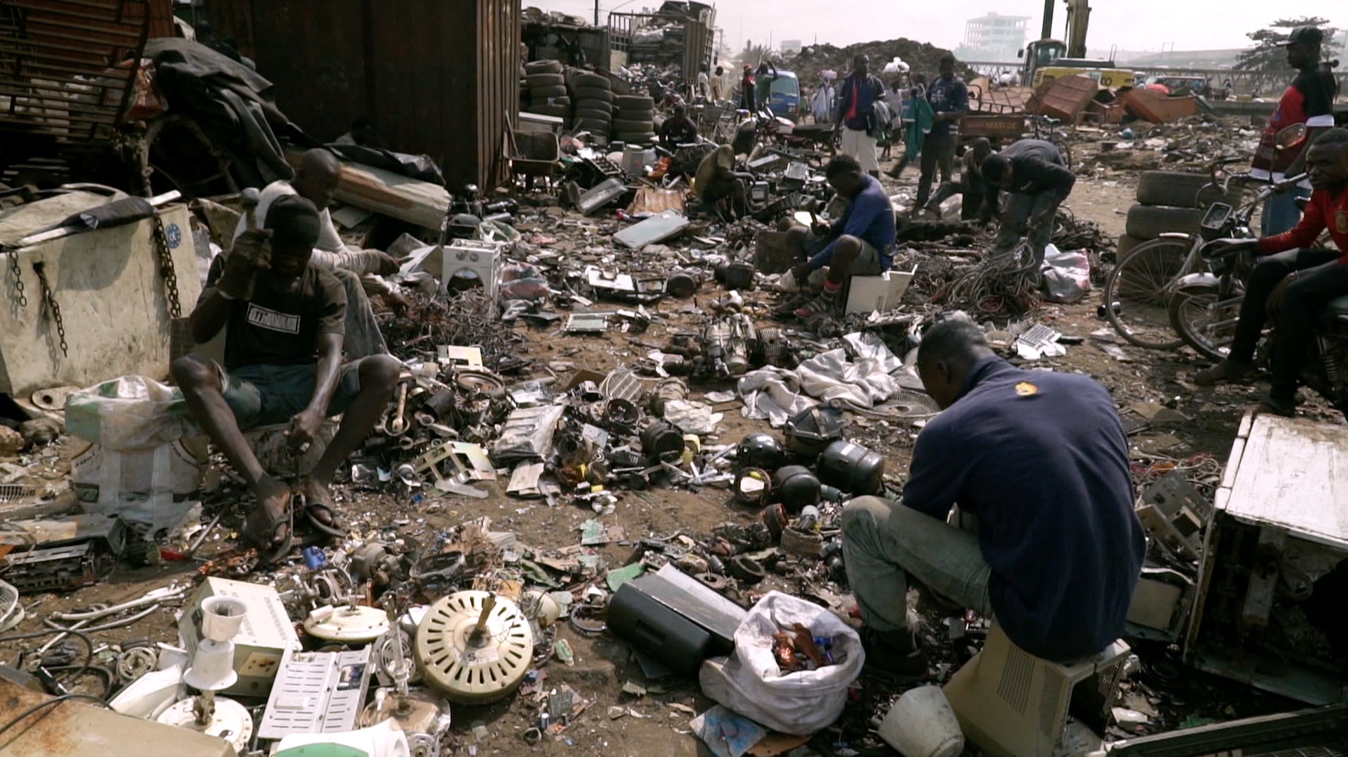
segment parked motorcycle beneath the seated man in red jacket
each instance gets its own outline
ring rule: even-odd
[[[1224,202],[1208,207],[1200,226],[1200,255],[1208,271],[1181,276],[1170,296],[1170,326],[1186,345],[1212,360],[1227,357],[1244,302],[1246,282],[1258,263],[1250,252],[1216,253],[1213,242],[1254,238],[1250,228],[1254,207],[1273,191],[1274,187],[1264,189],[1239,210]],[[1255,350],[1258,368],[1271,366],[1275,343],[1277,326]],[[1302,360],[1301,383],[1340,412],[1348,414],[1348,295],[1320,308],[1310,353]]]

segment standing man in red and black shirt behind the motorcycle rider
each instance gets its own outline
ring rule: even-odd
[[[1278,109],[1268,119],[1263,141],[1255,151],[1250,176],[1282,182],[1306,168],[1306,148],[1316,140],[1316,132],[1335,125],[1335,77],[1320,67],[1320,44],[1325,32],[1316,27],[1298,27],[1287,36],[1287,63],[1301,71],[1291,86],[1282,93]],[[1274,136],[1293,124],[1306,124],[1306,139],[1295,147],[1275,151]],[[1310,183],[1274,194],[1264,202],[1263,234],[1266,237],[1290,230],[1301,220],[1297,199],[1310,197]]]

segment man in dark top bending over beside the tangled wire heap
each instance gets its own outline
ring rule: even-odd
[[[1058,145],[1042,139],[1022,139],[983,160],[984,222],[998,218],[999,193],[1006,191],[1006,214],[992,255],[1006,255],[1029,237],[1034,257],[1043,263],[1043,249],[1053,241],[1058,206],[1072,194],[1077,175],[1068,168]]]

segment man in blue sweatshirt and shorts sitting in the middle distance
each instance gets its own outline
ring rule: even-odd
[[[791,269],[797,282],[805,284],[813,271],[829,267],[824,292],[795,311],[801,318],[834,310],[849,276],[879,276],[894,261],[894,205],[880,180],[848,155],[829,160],[824,175],[848,202],[836,224],[820,229],[822,234],[810,234],[803,226],[789,232],[801,257],[807,259]]]

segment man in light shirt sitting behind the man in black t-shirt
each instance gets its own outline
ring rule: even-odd
[[[314,244],[314,256],[310,263],[318,268],[329,271],[337,277],[346,292],[346,353],[352,357],[365,357],[371,354],[387,354],[384,335],[379,330],[375,319],[375,308],[365,295],[365,286],[361,277],[367,273],[387,276],[398,272],[398,260],[391,255],[377,249],[348,249],[341,241],[337,228],[333,225],[328,206],[337,191],[341,180],[341,163],[337,158],[322,148],[314,148],[303,154],[295,178],[290,180],[276,180],[267,185],[257,197],[257,207],[240,218],[235,226],[235,240],[249,228],[262,228],[267,224],[267,210],[279,197],[299,195],[318,207],[318,241]]]

